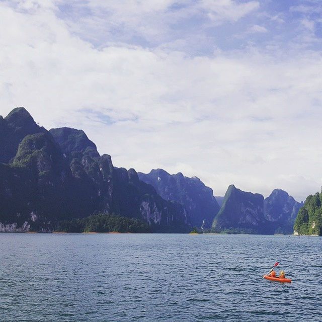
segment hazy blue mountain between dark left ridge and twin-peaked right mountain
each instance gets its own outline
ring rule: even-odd
[[[139,179],[153,186],[164,199],[176,201],[187,212],[190,223],[196,227],[210,228],[219,205],[211,188],[197,177],[184,177],[181,172],[170,175],[162,169],[138,173]]]

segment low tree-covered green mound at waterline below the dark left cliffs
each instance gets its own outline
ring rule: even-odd
[[[151,232],[148,223],[115,214],[99,213],[86,218],[60,221],[55,231],[63,232]]]

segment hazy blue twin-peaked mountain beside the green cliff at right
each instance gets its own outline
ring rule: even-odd
[[[293,223],[301,206],[280,189],[275,189],[264,199],[260,194],[241,191],[231,185],[213,221],[212,229],[214,232],[292,233]]]

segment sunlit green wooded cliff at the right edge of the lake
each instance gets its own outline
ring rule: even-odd
[[[322,193],[306,198],[295,219],[294,231],[301,235],[322,235]]]

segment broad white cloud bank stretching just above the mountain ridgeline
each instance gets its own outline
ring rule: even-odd
[[[298,199],[319,190],[319,52],[94,46],[33,3],[0,3],[0,114],[25,106],[46,128],[84,129],[116,166],[195,175],[216,195],[231,183]]]

